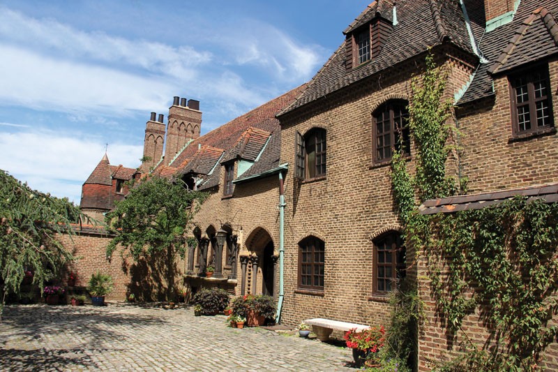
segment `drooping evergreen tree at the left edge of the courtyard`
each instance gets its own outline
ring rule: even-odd
[[[56,275],[72,254],[55,239],[73,235],[72,223],[83,218],[67,198],[31,190],[8,172],[0,170],[0,293],[2,305],[8,293],[19,293],[25,271],[33,271],[33,283],[43,284]]]

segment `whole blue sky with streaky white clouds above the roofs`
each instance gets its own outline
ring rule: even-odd
[[[307,82],[368,1],[0,0],[0,169],[80,202],[105,153],[135,168],[150,112],[202,134]]]

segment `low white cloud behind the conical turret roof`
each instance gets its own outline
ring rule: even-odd
[[[103,157],[105,144],[96,137],[69,137],[51,131],[2,133],[0,169],[44,193],[80,202],[81,186]],[[113,165],[140,165],[140,145],[110,144]]]

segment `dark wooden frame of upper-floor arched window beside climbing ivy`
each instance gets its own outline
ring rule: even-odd
[[[407,101],[400,101],[400,100],[396,100],[396,101],[388,101],[386,103],[384,103],[383,105],[381,105],[380,107],[377,108],[377,110],[375,110],[374,113],[372,113],[372,159],[373,159],[373,163],[375,164],[384,164],[384,163],[389,163],[391,161],[391,158],[393,158],[393,151],[399,151],[399,144],[398,144],[398,139],[402,136],[403,140],[405,141],[403,143],[404,147],[405,147],[405,151],[403,152],[404,156],[411,156],[411,136],[409,133],[409,110],[407,110]],[[395,115],[395,108],[398,108],[400,110],[400,115]],[[378,119],[379,116],[382,114],[389,114],[389,131],[384,131],[382,133],[378,133]],[[405,125],[402,126],[397,126],[397,128],[395,128],[395,124],[397,124],[395,122],[396,117],[400,118],[400,121],[405,121]],[[385,121],[385,120],[384,120]],[[389,143],[389,149],[391,149],[391,154],[390,156],[384,156],[382,158],[380,158],[379,154],[378,154],[378,136],[379,135],[389,135],[390,138],[390,143]],[[385,145],[382,148],[387,148]]]

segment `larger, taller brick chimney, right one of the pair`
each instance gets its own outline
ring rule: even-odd
[[[168,165],[190,140],[199,137],[201,126],[202,112],[199,111],[199,101],[174,97],[172,106],[169,107],[165,165]]]

